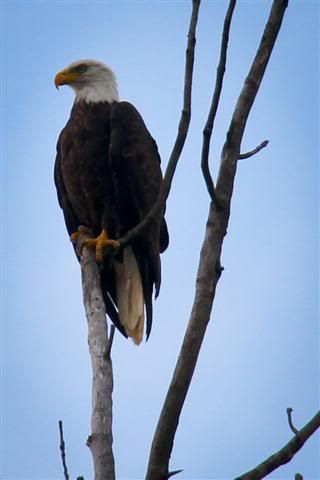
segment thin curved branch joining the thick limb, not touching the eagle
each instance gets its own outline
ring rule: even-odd
[[[223,25],[221,48],[220,48],[220,59],[217,67],[216,83],[214,87],[208,119],[203,130],[201,169],[202,169],[202,174],[206,182],[206,186],[207,186],[207,190],[209,192],[210,198],[213,202],[216,203],[216,205],[217,205],[217,199],[216,199],[214,184],[213,184],[213,180],[212,180],[212,176],[209,168],[209,151],[210,151],[210,141],[211,141],[214,120],[216,118],[221,91],[222,91],[223,77],[226,71],[229,32],[230,32],[230,25],[231,25],[231,20],[232,20],[232,15],[233,15],[235,5],[236,5],[236,0],[230,0],[226,17],[224,20],[224,25]]]

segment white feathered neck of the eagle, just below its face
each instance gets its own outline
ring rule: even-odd
[[[74,86],[76,93],[75,103],[84,101],[87,103],[119,101],[119,93],[116,79],[106,76],[85,85]]]

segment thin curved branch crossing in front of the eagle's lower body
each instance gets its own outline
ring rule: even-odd
[[[165,202],[169,196],[172,179],[176,171],[178,160],[180,158],[182,149],[187,138],[187,133],[190,125],[191,118],[191,92],[192,92],[192,75],[194,64],[194,50],[196,45],[196,26],[198,21],[200,0],[193,0],[192,2],[192,14],[188,31],[188,43],[186,50],[186,63],[185,63],[185,75],[184,75],[184,93],[183,93],[183,109],[181,112],[179,128],[177,138],[171,152],[166,172],[163,179],[162,190],[158,196],[158,199],[144,219],[136,225],[132,230],[129,230],[121,238],[118,238],[122,248],[126,247],[132,241],[137,238],[152,222],[158,212],[164,208]]]

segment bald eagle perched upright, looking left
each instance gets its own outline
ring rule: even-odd
[[[112,70],[95,60],[72,63],[55,85],[75,92],[62,130],[54,168],[58,201],[71,239],[79,227],[92,232],[85,242],[100,265],[106,312],[126,337],[139,344],[152,325],[152,296],[161,282],[160,253],[169,237],[164,211],[132,245],[117,252],[117,239],[149,212],[162,187],[156,142],[133,105],[119,101]],[[115,248],[114,255],[104,255]]]

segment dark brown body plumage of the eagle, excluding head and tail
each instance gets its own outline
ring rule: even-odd
[[[76,103],[58,141],[55,183],[69,235],[83,225],[95,236],[106,229],[117,239],[137,225],[162,184],[156,143],[137,110],[127,102]],[[153,288],[156,294],[160,288],[160,252],[167,246],[163,213],[132,245],[142,279],[147,336]],[[101,284],[107,313],[124,333],[117,316],[112,262],[103,265]]]

